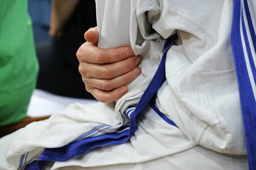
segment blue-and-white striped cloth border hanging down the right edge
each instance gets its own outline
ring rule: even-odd
[[[255,0],[234,0],[231,44],[239,84],[249,170],[256,170]]]

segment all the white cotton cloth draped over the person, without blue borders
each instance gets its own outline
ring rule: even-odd
[[[142,74],[116,103],[70,105],[49,120],[31,123],[0,139],[0,170],[16,170],[21,155],[29,152],[27,164],[45,147],[64,146],[97,125],[111,126],[97,135],[126,125],[126,108],[139,101],[159,65],[164,39],[175,33],[179,39],[167,53],[166,81],[157,93],[157,107],[180,129],[147,108],[138,118],[131,141],[47,168],[115,169],[120,165],[137,170],[156,162],[160,169],[160,164],[177,170],[198,169],[204,164],[206,170],[247,169],[245,159],[221,156],[246,155],[230,45],[232,4],[232,0],[96,0],[99,47],[131,46],[143,58]],[[199,153],[202,147],[197,144],[219,153],[207,149]],[[187,159],[195,162],[184,164]]]

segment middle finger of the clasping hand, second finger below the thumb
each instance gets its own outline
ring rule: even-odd
[[[119,62],[104,65],[81,62],[79,65],[79,72],[83,77],[111,79],[133,70],[140,64],[141,60],[140,56],[134,56]]]

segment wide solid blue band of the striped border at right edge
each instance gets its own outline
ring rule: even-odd
[[[233,1],[233,23],[231,31],[231,45],[233,49],[233,56],[236,66],[236,74],[239,85],[240,103],[242,110],[242,117],[244,122],[244,134],[247,147],[247,159],[249,170],[256,169],[256,102],[253,96],[252,86],[247,72],[247,66],[244,59],[244,52],[241,32],[240,32],[240,21],[241,21],[241,0]],[[255,41],[255,40],[253,40]]]

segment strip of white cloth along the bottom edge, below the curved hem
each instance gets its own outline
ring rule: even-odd
[[[105,150],[102,148],[102,152]],[[120,153],[122,154],[122,153]],[[119,155],[113,155],[117,159]],[[102,161],[102,159],[98,159]],[[61,162],[49,162],[45,170],[247,170],[246,158],[232,158],[195,146],[180,153],[140,163],[119,163],[105,166],[65,166]]]

